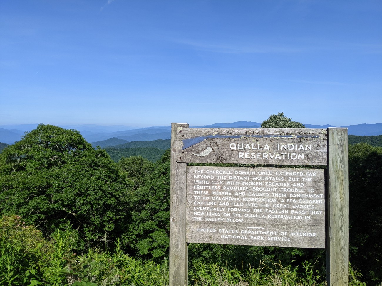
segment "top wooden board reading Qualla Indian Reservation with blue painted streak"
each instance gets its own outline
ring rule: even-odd
[[[176,161],[327,165],[327,130],[180,128]]]

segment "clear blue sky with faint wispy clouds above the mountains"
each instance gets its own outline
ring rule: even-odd
[[[0,125],[382,122],[382,2],[2,0]]]

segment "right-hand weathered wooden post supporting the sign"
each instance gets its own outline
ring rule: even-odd
[[[348,130],[328,128],[328,210],[326,280],[348,285],[349,179]]]

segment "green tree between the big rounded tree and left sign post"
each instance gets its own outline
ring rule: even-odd
[[[139,257],[160,261],[168,255],[170,243],[170,150],[152,167],[142,159],[124,159],[120,164],[124,165],[128,160],[130,164],[137,161],[141,170],[136,170],[136,166],[125,165],[125,168],[138,178],[144,175],[144,183],[134,190],[131,197],[131,220],[122,242]],[[142,170],[152,172],[142,174]],[[134,178],[131,180],[135,181]]]

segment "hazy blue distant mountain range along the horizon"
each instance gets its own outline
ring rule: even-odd
[[[25,132],[35,129],[38,124],[21,124],[21,125],[0,125],[0,142],[13,144],[15,141],[20,140]],[[261,123],[238,121],[233,123],[215,123],[211,125],[193,126],[200,128],[259,128]],[[136,128],[125,125],[61,125],[60,127],[66,129],[76,129],[88,141],[92,142],[93,146],[116,146],[130,141],[151,141],[157,139],[170,139],[171,126],[152,126],[145,128]],[[305,124],[307,128],[327,128],[336,127],[333,125],[312,125]],[[349,135],[372,136],[382,135],[382,123],[376,124],[357,124],[347,127]]]

